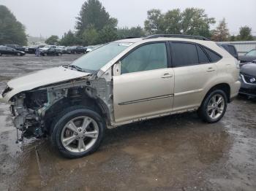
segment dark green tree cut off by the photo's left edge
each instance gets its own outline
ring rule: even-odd
[[[27,44],[25,26],[20,23],[10,9],[0,5],[0,44]]]

